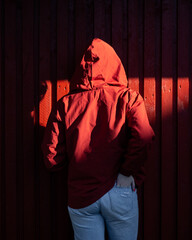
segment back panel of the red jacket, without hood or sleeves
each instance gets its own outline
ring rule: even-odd
[[[70,159],[69,204],[80,208],[95,202],[115,183],[129,137],[128,90],[103,86],[62,101]]]

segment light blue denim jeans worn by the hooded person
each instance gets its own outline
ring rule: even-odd
[[[81,209],[68,207],[75,240],[136,240],[137,192],[116,185],[95,203]]]

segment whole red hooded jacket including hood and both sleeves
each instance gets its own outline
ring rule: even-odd
[[[114,185],[118,173],[145,176],[147,144],[154,132],[139,93],[127,88],[114,49],[94,39],[71,79],[70,93],[53,108],[42,145],[45,165],[67,163],[68,204],[88,206]]]

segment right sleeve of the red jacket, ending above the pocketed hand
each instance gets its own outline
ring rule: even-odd
[[[128,142],[123,156],[120,173],[132,175],[137,186],[145,178],[144,163],[147,158],[147,148],[154,139],[154,132],[149,124],[143,98],[133,92],[127,106]]]

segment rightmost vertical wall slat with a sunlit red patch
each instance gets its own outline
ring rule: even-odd
[[[189,112],[189,1],[177,0],[177,48],[176,48],[176,93],[177,93],[177,238],[191,235],[191,122]],[[188,188],[190,190],[188,190]],[[188,196],[188,197],[186,197]],[[185,219],[185,221],[183,221]]]

